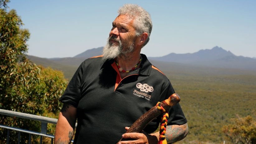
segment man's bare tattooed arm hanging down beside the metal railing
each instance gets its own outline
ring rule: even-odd
[[[55,144],[71,143],[76,124],[76,113],[77,109],[75,107],[63,104],[55,130]]]

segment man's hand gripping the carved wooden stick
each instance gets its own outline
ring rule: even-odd
[[[129,127],[125,127],[126,130],[129,129]],[[118,144],[157,144],[158,139],[156,136],[147,134],[146,132],[142,131],[142,133],[138,132],[131,132],[131,133],[125,133],[122,135],[122,138],[131,138],[134,140],[130,141],[121,141]]]

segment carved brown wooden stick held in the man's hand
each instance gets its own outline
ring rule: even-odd
[[[168,111],[173,105],[177,104],[180,101],[180,97],[178,94],[172,94],[168,99],[161,102],[161,106]],[[140,116],[126,131],[128,132],[141,132],[147,124],[152,121],[154,118],[162,114],[162,110],[158,109],[157,106],[154,106],[153,108],[149,109],[145,114]],[[119,142],[122,141],[122,138]],[[118,144],[118,142],[116,143]]]

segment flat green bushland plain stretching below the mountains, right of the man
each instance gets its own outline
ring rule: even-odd
[[[223,73],[225,69],[219,71]],[[255,72],[250,75],[220,75],[200,70],[165,73],[181,96],[180,104],[188,120],[189,134],[179,143],[231,143],[222,132],[222,127],[232,122],[230,118],[250,115],[255,122]]]

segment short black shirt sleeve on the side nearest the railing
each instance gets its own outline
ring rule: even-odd
[[[65,104],[72,105],[77,108],[81,97],[81,78],[83,75],[83,63],[78,67],[72,79],[70,80],[64,94],[59,98],[59,101]]]

